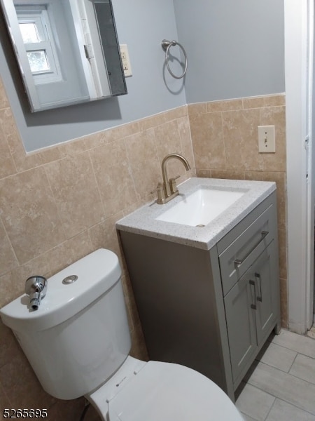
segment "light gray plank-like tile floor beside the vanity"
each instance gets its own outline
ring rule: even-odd
[[[246,421],[315,421],[315,339],[271,336],[237,394]]]

